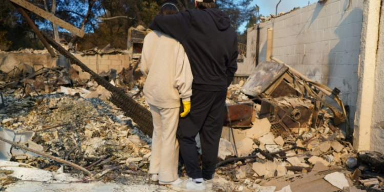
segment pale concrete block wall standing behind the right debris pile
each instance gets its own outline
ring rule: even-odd
[[[266,60],[267,29],[272,55],[310,79],[340,91],[356,111],[363,0],[315,3],[260,24],[260,61]],[[248,37],[250,38],[250,37]],[[248,44],[249,45],[249,44]]]

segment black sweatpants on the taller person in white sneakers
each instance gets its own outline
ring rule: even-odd
[[[215,174],[226,94],[226,91],[192,89],[190,113],[185,118],[180,118],[177,130],[180,152],[190,178],[209,180]],[[195,140],[199,133],[203,170],[199,166]]]

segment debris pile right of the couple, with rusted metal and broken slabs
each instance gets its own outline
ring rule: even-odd
[[[276,62],[231,86],[216,182],[238,191],[382,191],[384,156],[353,150],[337,127],[348,125],[344,105],[337,90],[339,106],[326,102],[326,90]]]

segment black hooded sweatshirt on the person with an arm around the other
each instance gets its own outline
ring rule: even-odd
[[[157,15],[150,29],[164,32],[183,45],[194,89],[227,90],[238,68],[239,52],[236,32],[225,13],[208,8]]]

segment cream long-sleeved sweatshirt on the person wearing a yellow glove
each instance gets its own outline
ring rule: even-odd
[[[190,101],[193,75],[183,46],[159,31],[148,33],[141,53],[141,72],[146,76],[144,95],[160,108],[179,108],[180,98]]]

